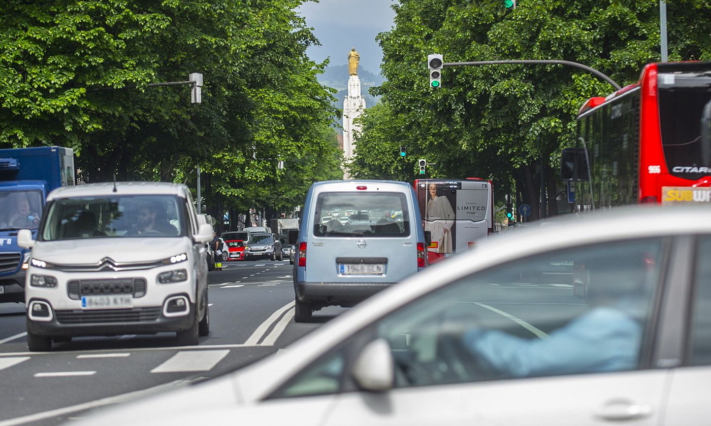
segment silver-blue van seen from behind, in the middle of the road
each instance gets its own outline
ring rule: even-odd
[[[427,266],[412,186],[383,180],[316,182],[296,241],[296,322],[350,307]]]

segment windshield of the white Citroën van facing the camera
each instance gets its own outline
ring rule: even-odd
[[[43,241],[183,236],[183,212],[174,195],[63,198],[49,207]]]

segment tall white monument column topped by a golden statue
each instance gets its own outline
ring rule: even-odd
[[[360,79],[358,78],[358,62],[360,55],[351,49],[348,53],[348,94],[343,99],[343,159],[345,160],[345,170],[343,179],[350,179],[348,173],[348,163],[353,160],[355,148],[354,132],[360,132],[360,125],[353,124],[353,119],[357,119],[365,110],[365,98],[360,94]]]

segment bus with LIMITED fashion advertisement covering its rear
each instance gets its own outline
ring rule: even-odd
[[[493,185],[489,180],[415,180],[424,230],[432,235],[429,263],[466,251],[493,232]]]

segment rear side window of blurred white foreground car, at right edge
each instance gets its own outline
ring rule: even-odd
[[[693,316],[691,321],[691,364],[711,365],[711,236],[700,239],[696,252]]]

